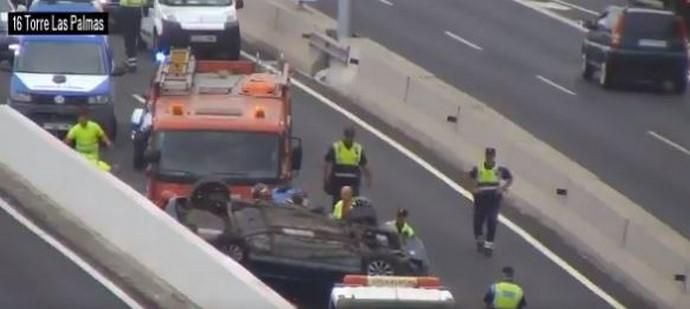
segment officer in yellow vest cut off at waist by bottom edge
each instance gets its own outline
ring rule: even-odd
[[[522,309],[527,306],[525,293],[515,283],[512,267],[503,267],[503,279],[492,284],[484,295],[487,309]]]

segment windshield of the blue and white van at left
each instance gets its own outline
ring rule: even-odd
[[[107,75],[102,45],[90,42],[27,41],[15,60],[24,73]]]

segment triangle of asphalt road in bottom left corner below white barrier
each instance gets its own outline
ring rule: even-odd
[[[2,210],[0,248],[3,248],[0,308],[128,308],[93,277]]]

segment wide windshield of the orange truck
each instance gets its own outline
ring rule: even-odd
[[[231,131],[158,133],[159,173],[228,179],[277,179],[280,136]]]

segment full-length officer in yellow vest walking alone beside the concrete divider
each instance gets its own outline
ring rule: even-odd
[[[503,193],[513,183],[510,171],[496,165],[496,149],[486,148],[485,160],[470,171],[470,178],[474,180],[474,238],[477,251],[491,256],[493,242],[496,236],[498,213]],[[501,182],[503,181],[503,182]],[[483,239],[484,223],[487,225],[486,241]]]

